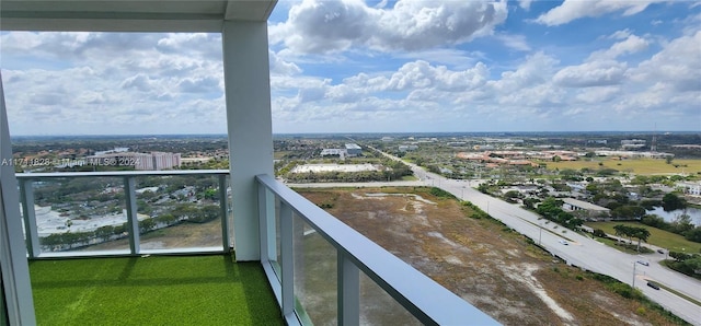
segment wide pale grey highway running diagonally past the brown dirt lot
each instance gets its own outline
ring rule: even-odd
[[[383,152],[382,154],[400,160]],[[414,175],[425,185],[441,188],[462,200],[471,201],[509,228],[532,238],[536,243],[540,242],[551,254],[564,259],[568,265],[607,275],[628,284],[634,282],[634,287],[654,302],[685,321],[701,326],[701,306],[664,288],[655,290],[647,286],[647,280],[652,280],[701,302],[701,281],[659,265],[658,261],[664,259],[664,255],[655,253],[639,256],[619,252],[596,240],[548,222],[518,205],[478,191],[473,187],[479,184],[479,181],[449,179],[426,172],[415,164],[409,165]],[[636,264],[637,260],[650,261],[650,266]]]

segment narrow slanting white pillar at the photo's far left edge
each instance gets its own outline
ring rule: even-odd
[[[4,107],[4,91],[0,74],[0,269],[4,302],[10,325],[36,325],[34,300],[26,261],[26,245],[22,234],[20,191],[14,176],[12,147]]]

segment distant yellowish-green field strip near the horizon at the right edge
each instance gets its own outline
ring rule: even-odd
[[[601,163],[601,165],[599,165]],[[674,160],[671,164],[667,164],[665,160],[653,159],[630,159],[614,160],[609,158],[594,158],[591,161],[573,161],[573,162],[547,162],[548,168],[554,170],[582,170],[589,168],[593,171],[600,168],[614,168],[620,172],[628,172],[641,175],[648,174],[698,174],[701,173],[701,160]]]

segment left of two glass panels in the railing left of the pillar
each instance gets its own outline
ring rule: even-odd
[[[44,178],[32,187],[42,253],[128,252],[122,178]]]

